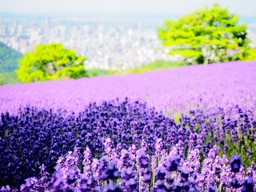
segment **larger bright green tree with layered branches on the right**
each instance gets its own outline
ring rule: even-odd
[[[170,46],[169,54],[179,54],[189,64],[240,60],[250,42],[246,25],[238,25],[238,15],[218,4],[166,20],[158,28],[158,38],[162,46]]]

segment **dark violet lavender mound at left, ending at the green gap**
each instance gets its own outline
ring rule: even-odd
[[[79,147],[81,154],[76,158],[76,165],[82,162],[85,146],[91,149],[90,154],[85,154],[86,157],[101,157],[105,153],[111,154],[114,161],[113,154],[118,154],[122,149],[128,150],[132,144],[140,146],[142,137],[148,143],[147,150],[152,153],[154,137],[162,129],[158,127],[160,123],[175,127],[173,120],[154,109],[147,109],[145,103],[130,103],[128,100],[103,102],[99,106],[92,103],[80,114],[56,114],[52,110],[37,108],[25,108],[17,115],[2,113],[0,186],[21,185],[25,178],[38,175],[42,164],[52,173],[58,157],[74,146]],[[150,133],[152,129],[154,132]],[[152,134],[152,138],[148,137],[149,134]],[[111,138],[111,142],[105,138]],[[112,145],[118,146],[116,152],[110,150]],[[73,156],[70,154],[70,159]]]

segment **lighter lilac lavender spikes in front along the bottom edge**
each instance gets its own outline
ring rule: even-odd
[[[82,173],[76,164],[75,158],[71,161],[70,154],[78,157],[78,154],[69,152],[62,157],[62,161],[69,162],[66,166],[57,166],[54,174],[46,178],[28,178],[22,184],[22,191],[256,191],[256,166],[252,162],[245,169],[241,159],[234,155],[228,162],[225,155],[222,157],[216,154],[219,150],[213,146],[207,158],[202,161],[201,170],[190,169],[197,166],[197,162],[190,162],[190,158],[181,158],[172,147],[167,155],[160,155],[162,163],[154,171],[151,169],[149,155],[143,148],[137,150],[136,160],[132,161],[130,154],[123,150],[118,155],[117,166],[103,156],[99,159],[99,166],[96,168],[99,177],[95,177],[93,171]],[[191,151],[196,154],[197,150]],[[198,159],[196,159],[198,160]],[[233,170],[234,161],[238,161],[239,169]],[[131,163],[134,162],[134,166]],[[91,163],[90,170],[93,170]],[[236,168],[238,168],[236,167]],[[68,171],[66,171],[68,170]],[[122,173],[122,174],[120,174]],[[10,191],[9,186],[2,187],[2,190]]]

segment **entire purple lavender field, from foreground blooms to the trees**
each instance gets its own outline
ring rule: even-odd
[[[0,191],[256,191],[255,72],[0,86]]]

